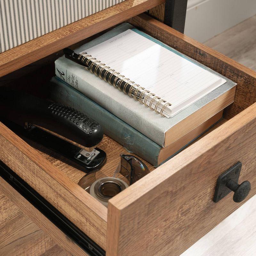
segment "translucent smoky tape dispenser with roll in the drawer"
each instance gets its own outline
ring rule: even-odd
[[[86,174],[78,185],[100,203],[108,206],[108,200],[149,173],[148,167],[135,156],[121,154],[121,160],[113,177],[99,170]]]

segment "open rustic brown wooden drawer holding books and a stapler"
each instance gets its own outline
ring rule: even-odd
[[[256,73],[145,14],[128,22],[235,81],[235,102],[219,127],[113,197],[108,208],[76,184],[83,172],[37,152],[0,124],[0,160],[66,217],[74,234],[1,177],[0,190],[72,255],[101,255],[99,247],[108,256],[179,255],[256,193]],[[108,157],[102,171],[110,174],[124,148],[108,137],[100,148]],[[238,161],[239,182],[252,185],[249,195],[242,203],[233,202],[233,193],[214,203],[218,176]],[[84,249],[75,239],[80,231],[89,239]]]

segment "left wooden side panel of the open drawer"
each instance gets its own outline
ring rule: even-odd
[[[2,123],[0,123],[0,145],[0,160],[105,250],[107,208]],[[0,189],[4,193],[6,182],[1,179],[0,183]],[[8,186],[10,185],[8,184]],[[7,193],[4,194],[10,196]],[[31,204],[26,205],[28,209],[31,206]],[[36,222],[38,219],[36,212],[31,211],[31,214],[31,219]],[[40,225],[38,224],[38,226]],[[47,232],[48,227],[42,229],[51,236],[52,228],[49,228],[49,232]],[[58,232],[55,235],[58,235]],[[54,236],[52,238],[54,239]],[[66,243],[66,239],[65,237],[63,244]]]

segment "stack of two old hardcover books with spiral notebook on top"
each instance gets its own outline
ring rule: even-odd
[[[218,122],[234,101],[236,83],[128,23],[75,52],[89,70],[56,60],[52,100],[92,117],[154,166]]]

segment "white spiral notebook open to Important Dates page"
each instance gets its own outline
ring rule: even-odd
[[[226,82],[132,29],[80,54],[92,73],[168,118]]]

